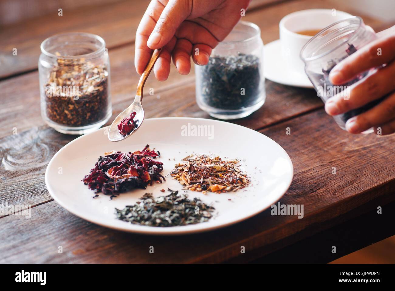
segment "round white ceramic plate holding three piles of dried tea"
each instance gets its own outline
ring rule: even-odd
[[[210,129],[206,136],[194,135],[194,126]],[[182,131],[185,129],[186,131]],[[188,131],[188,128],[191,131]],[[107,138],[108,127],[98,129],[71,141],[55,154],[45,172],[45,184],[58,204],[71,213],[117,230],[144,234],[186,234],[213,230],[237,223],[274,204],[286,192],[293,176],[292,162],[284,149],[265,135],[252,129],[228,122],[203,118],[152,118],[144,120],[141,129],[132,137],[113,143]],[[209,135],[209,136],[208,136]],[[136,189],[109,199],[102,193],[92,199],[93,191],[81,179],[94,167],[104,152],[119,150],[134,152],[147,143],[161,153],[166,176],[188,154],[216,154],[220,157],[238,158],[252,180],[252,185],[237,192],[215,194],[187,191],[190,198],[199,197],[206,204],[213,204],[215,216],[208,222],[173,227],[141,226],[115,219],[114,208],[133,205],[146,192],[162,196],[167,188],[181,190],[182,186],[170,176],[166,182]],[[166,192],[161,192],[165,189]],[[184,191],[184,190],[182,190]],[[231,200],[228,200],[231,199]]]

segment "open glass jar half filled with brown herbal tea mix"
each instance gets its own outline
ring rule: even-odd
[[[72,32],[41,43],[41,116],[61,133],[84,134],[112,114],[110,63],[100,36]]]

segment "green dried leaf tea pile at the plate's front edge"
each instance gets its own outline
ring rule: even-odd
[[[147,226],[179,226],[203,223],[211,219],[214,207],[200,199],[188,199],[186,194],[170,190],[167,196],[154,198],[152,193],[145,193],[135,205],[115,208],[117,219],[133,224]]]

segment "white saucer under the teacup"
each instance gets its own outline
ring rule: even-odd
[[[283,85],[313,88],[305,72],[297,72],[288,68],[288,63],[281,55],[280,40],[265,44],[263,58],[263,72],[265,78]]]

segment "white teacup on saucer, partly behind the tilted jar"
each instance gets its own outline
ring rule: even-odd
[[[351,14],[335,9],[308,9],[284,16],[280,21],[281,54],[294,72],[305,74],[304,63],[299,53],[312,36],[299,34],[305,30],[321,30]]]

